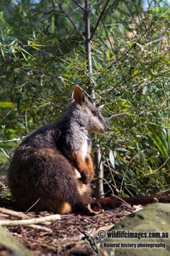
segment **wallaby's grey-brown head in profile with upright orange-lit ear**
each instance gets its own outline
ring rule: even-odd
[[[72,102],[69,105],[71,116],[89,132],[105,133],[110,130],[101,111],[90,102],[79,86],[74,86]]]

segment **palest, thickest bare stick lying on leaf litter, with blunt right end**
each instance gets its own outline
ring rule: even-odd
[[[46,221],[56,221],[56,220],[60,220],[59,214],[53,214],[50,216],[34,218],[30,220],[1,220],[0,226],[10,227],[10,226],[19,226],[19,225],[32,225],[32,224],[44,223]]]

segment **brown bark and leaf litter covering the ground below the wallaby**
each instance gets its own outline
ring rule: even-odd
[[[0,205],[7,209],[16,210],[15,204],[10,200],[3,198],[0,194]],[[88,241],[81,241],[81,234],[77,228],[82,228],[92,237],[99,237],[100,230],[109,230],[115,223],[123,220],[127,215],[136,210],[136,207],[124,205],[110,211],[104,211],[99,214],[67,214],[61,215],[61,219],[50,223],[42,224],[42,227],[52,229],[51,232],[39,231],[29,227],[8,227],[13,236],[28,248],[35,256],[83,256],[96,255]],[[53,212],[29,212],[27,216],[38,218],[48,216]],[[18,220],[18,218],[0,212],[0,220]],[[100,239],[99,239],[100,240]],[[110,255],[100,247],[99,240],[96,241],[100,255]],[[8,254],[8,253],[7,253]],[[6,255],[3,249],[0,250],[0,256]]]

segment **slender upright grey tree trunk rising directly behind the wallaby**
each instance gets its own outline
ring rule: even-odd
[[[92,56],[91,56],[91,44],[90,44],[90,4],[89,0],[85,0],[85,48],[87,53],[87,69],[89,73],[92,73]],[[91,90],[90,95],[92,99],[95,99],[94,89]],[[101,163],[101,150],[100,148],[94,153],[94,163],[96,166],[96,198],[104,196],[103,190],[103,166]]]

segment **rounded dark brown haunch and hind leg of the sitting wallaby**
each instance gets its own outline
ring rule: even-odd
[[[76,178],[72,164],[55,148],[29,157],[16,151],[8,179],[13,197],[24,210],[36,203],[31,211],[81,211],[90,201],[90,186]]]

